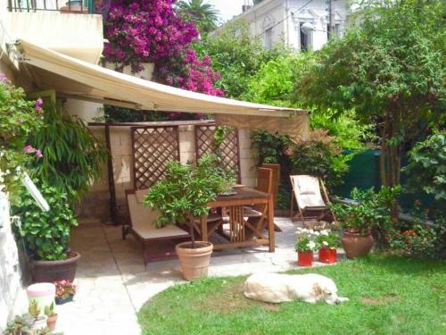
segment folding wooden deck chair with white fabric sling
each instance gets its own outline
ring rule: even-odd
[[[326,220],[335,221],[335,214],[328,204],[330,200],[326,193],[324,182],[315,176],[292,175],[290,176],[293,192],[291,197],[290,217],[292,220]],[[294,201],[297,204],[298,213],[293,216]]]

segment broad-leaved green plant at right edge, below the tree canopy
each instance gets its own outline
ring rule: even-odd
[[[436,200],[446,200],[446,132],[434,134],[409,152],[409,190],[423,190]]]

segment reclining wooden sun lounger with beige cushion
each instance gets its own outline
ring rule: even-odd
[[[158,213],[143,204],[147,189],[128,189],[126,198],[129,214],[129,225],[122,227],[122,239],[126,239],[128,232],[143,243],[143,255],[145,264],[156,258],[175,255],[175,244],[163,245],[156,242],[174,239],[188,239],[189,233],[176,225],[169,224],[163,228],[156,228],[154,221]]]

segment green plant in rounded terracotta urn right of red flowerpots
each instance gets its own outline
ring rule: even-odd
[[[343,249],[348,258],[367,255],[375,243],[372,228],[385,230],[391,225],[391,212],[395,197],[401,188],[383,187],[379,192],[373,188],[351,191],[348,204],[331,205],[343,227]]]

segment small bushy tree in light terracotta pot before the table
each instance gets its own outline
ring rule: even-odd
[[[186,281],[207,275],[213,248],[211,242],[195,241],[194,218],[208,214],[207,203],[226,187],[227,173],[217,166],[216,157],[203,155],[196,166],[170,161],[165,179],[153,185],[145,197],[145,205],[161,213],[155,222],[157,227],[170,223],[189,225],[192,240],[176,246]]]

